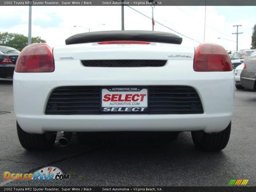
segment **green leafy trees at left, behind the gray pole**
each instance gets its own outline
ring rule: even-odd
[[[21,51],[24,47],[28,45],[28,37],[18,34],[18,33],[8,33],[0,32],[0,45],[1,46],[7,46],[7,47],[13,47],[15,49],[18,49]],[[31,39],[32,43],[46,43],[45,40],[41,39],[41,37],[32,37]]]

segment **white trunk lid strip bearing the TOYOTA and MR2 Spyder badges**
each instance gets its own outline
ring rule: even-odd
[[[193,60],[194,47],[151,42],[140,44],[82,43],[54,47],[54,60]],[[193,63],[193,62],[192,62]]]

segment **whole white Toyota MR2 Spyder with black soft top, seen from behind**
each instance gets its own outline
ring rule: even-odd
[[[191,131],[198,149],[225,148],[234,103],[229,55],[217,44],[181,42],[156,31],[101,31],[73,35],[65,46],[25,47],[13,78],[21,145],[50,149],[57,131],[66,142],[72,132],[92,141],[94,132]]]

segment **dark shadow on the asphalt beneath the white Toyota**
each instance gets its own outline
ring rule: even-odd
[[[60,133],[58,133],[59,137]],[[139,141],[130,142],[125,135],[120,138],[113,137],[108,142],[104,141],[98,145],[81,145],[78,143],[76,133],[73,133],[71,142],[67,146],[63,147],[56,141],[50,151],[24,150],[27,161],[40,164],[27,173],[36,171],[43,166],[58,165],[64,161],[79,166],[97,162],[99,167],[111,166],[112,169],[117,169],[116,166],[120,163],[121,167],[126,168],[131,167],[133,163],[141,164],[142,167],[150,163],[152,168],[156,166],[169,167],[171,163],[171,167],[180,167],[182,164],[183,167],[198,166],[198,169],[209,169],[209,167],[207,168],[208,163],[200,163],[208,161],[215,166],[215,169],[211,170],[212,172],[218,171],[218,164],[230,164],[229,158],[222,151],[203,152],[195,149],[190,132],[180,133],[178,139],[171,142],[162,141],[161,138],[152,141],[147,136],[142,137]],[[83,159],[82,162],[81,159]],[[70,165],[69,171],[72,171],[71,167],[72,165]],[[138,170],[145,168],[138,165],[136,167]]]

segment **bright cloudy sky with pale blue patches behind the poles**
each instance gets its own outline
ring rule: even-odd
[[[151,17],[150,6],[133,6]],[[12,14],[10,14],[10,9]],[[28,7],[12,6],[1,10],[0,32],[28,34]],[[183,45],[197,46],[204,39],[205,6],[156,6],[154,19],[184,34]],[[105,24],[105,25],[102,25]],[[236,32],[233,25],[242,25],[239,31],[238,49],[248,49],[251,44],[252,27],[256,24],[256,6],[207,6],[205,41],[218,43],[227,50],[235,50]],[[81,27],[74,27],[79,25]],[[76,33],[121,29],[119,6],[33,6],[32,35],[45,39],[50,45],[64,45],[65,39]],[[151,20],[125,7],[126,30],[151,30]],[[175,32],[159,25],[156,31]],[[221,37],[222,39],[218,39]],[[224,39],[226,38],[226,39]]]

